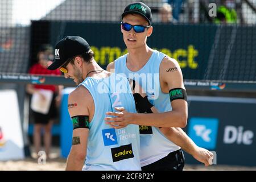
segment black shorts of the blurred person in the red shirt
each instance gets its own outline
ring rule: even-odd
[[[51,106],[49,108],[48,114],[38,113],[36,111],[31,110],[32,117],[34,118],[35,124],[47,125],[51,119],[55,119],[57,117],[57,107],[55,103],[56,94],[53,94]]]

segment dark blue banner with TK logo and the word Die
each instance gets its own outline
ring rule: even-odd
[[[256,166],[256,99],[189,96],[187,134],[217,164]],[[186,155],[187,163],[196,163]]]

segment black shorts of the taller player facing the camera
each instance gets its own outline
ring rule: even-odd
[[[141,167],[142,171],[182,171],[184,167],[183,151],[177,150],[171,152],[166,157],[147,166]]]

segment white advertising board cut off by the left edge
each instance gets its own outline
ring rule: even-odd
[[[0,90],[0,160],[24,158],[22,127],[15,90]]]

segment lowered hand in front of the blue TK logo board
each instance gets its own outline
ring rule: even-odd
[[[212,165],[213,154],[205,148],[198,147],[192,156],[199,162],[204,163],[204,166]]]

